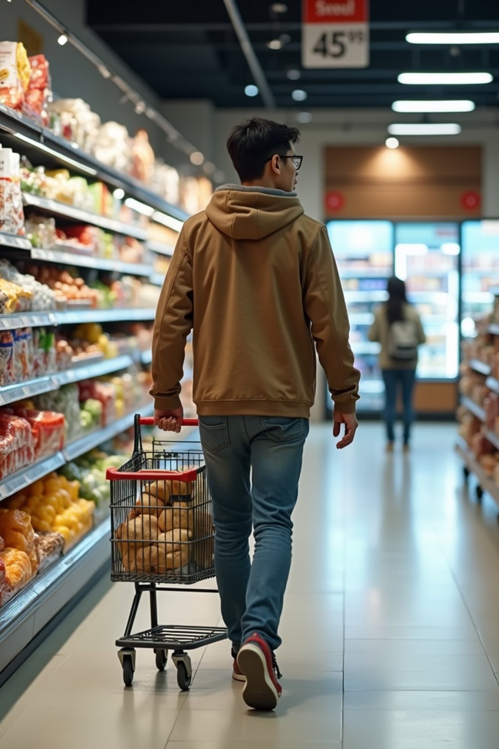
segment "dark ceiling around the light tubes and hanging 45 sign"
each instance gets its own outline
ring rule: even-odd
[[[385,107],[396,99],[471,98],[499,106],[499,45],[450,49],[405,41],[407,31],[499,30],[499,0],[371,0],[370,67],[301,67],[301,0],[272,13],[271,0],[236,0],[251,43],[280,107]],[[87,0],[88,25],[165,99],[209,99],[218,107],[261,104],[245,96],[254,83],[223,0]],[[283,49],[269,40],[287,34]],[[288,79],[301,71],[299,82]],[[488,71],[495,80],[475,86],[407,86],[408,71]],[[296,103],[293,89],[307,92]]]

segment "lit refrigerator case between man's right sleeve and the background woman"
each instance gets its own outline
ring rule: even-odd
[[[374,309],[387,298],[386,286],[394,268],[394,225],[390,221],[329,221],[327,229],[349,310],[355,366],[361,371],[358,410],[376,413],[383,406],[379,344],[370,342],[367,333]]]

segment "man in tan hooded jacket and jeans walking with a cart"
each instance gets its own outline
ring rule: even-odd
[[[299,130],[252,118],[227,149],[241,185],[215,190],[183,225],[153,337],[155,423],[180,431],[194,330],[194,401],[215,524],[215,572],[245,703],[274,709],[274,651],[291,564],[291,515],[316,385],[314,342],[334,398],[337,447],[358,426],[359,372],[328,234],[294,192]],[[251,472],[251,481],[250,481]],[[248,539],[254,527],[251,564]]]

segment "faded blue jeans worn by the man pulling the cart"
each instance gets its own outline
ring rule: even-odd
[[[215,573],[229,638],[237,649],[257,632],[275,650],[281,644],[278,625],[291,566],[291,515],[308,419],[200,416],[199,431],[213,498]]]

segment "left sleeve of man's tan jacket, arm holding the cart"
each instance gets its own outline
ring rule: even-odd
[[[157,409],[172,410],[181,406],[180,380],[193,312],[192,257],[183,227],[165,276],[154,322],[150,394]]]

